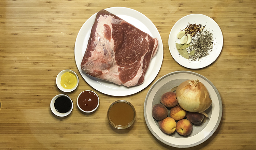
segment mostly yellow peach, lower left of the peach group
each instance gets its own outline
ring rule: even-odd
[[[158,124],[160,130],[166,134],[171,134],[176,130],[176,122],[171,117],[158,121]]]

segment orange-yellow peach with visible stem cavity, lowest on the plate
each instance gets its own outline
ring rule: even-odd
[[[193,125],[187,119],[182,119],[177,122],[176,131],[180,135],[184,135],[184,136],[189,135],[192,132],[192,129],[193,129]]]

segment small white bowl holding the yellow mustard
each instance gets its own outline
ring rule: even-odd
[[[65,88],[63,88],[63,87],[60,85],[61,76],[62,76],[64,73],[66,73],[66,72],[73,73],[73,74],[75,75],[76,79],[77,79],[76,86],[73,87],[72,89],[65,89]],[[74,71],[72,71],[72,70],[62,70],[61,72],[59,72],[59,74],[58,74],[57,77],[56,77],[56,85],[57,85],[57,87],[58,87],[61,91],[63,91],[63,92],[67,92],[67,93],[68,93],[68,92],[74,91],[74,90],[77,88],[78,84],[79,84],[79,78],[78,78],[77,74],[76,74]]]

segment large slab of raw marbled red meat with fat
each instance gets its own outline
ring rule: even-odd
[[[96,78],[136,86],[143,83],[157,49],[156,38],[101,10],[91,29],[81,68]]]

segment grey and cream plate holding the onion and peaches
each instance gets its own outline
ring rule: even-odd
[[[188,136],[181,136],[176,131],[171,135],[165,134],[159,129],[158,122],[152,117],[152,107],[160,103],[162,94],[171,91],[172,88],[179,86],[188,79],[199,79],[207,87],[212,100],[212,105],[205,110],[209,118],[205,123],[193,125],[192,133]],[[161,142],[178,148],[193,147],[207,140],[216,131],[222,117],[221,96],[212,82],[200,74],[190,71],[172,72],[158,79],[148,91],[144,103],[144,117],[148,129]]]

